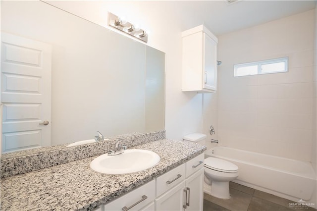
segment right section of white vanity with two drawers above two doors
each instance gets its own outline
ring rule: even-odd
[[[204,154],[159,176],[156,179],[157,198],[155,199],[155,210],[202,211],[204,200],[203,166]],[[180,172],[184,172],[185,176]],[[171,185],[171,187],[166,188],[168,185]]]

